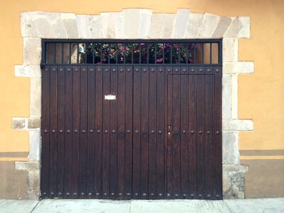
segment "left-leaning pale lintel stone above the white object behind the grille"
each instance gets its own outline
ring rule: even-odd
[[[67,33],[67,38],[80,38],[77,18],[74,13],[61,13],[62,24]]]

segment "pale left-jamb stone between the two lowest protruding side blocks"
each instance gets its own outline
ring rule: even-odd
[[[40,160],[40,130],[29,131],[28,132],[30,139],[30,154],[28,155],[29,161],[38,161]]]

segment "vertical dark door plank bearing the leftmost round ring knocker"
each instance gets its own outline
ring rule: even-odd
[[[125,146],[125,67],[119,67],[118,88],[117,88],[117,124],[118,124],[118,176],[117,185],[119,198],[126,197],[124,193],[124,146]]]

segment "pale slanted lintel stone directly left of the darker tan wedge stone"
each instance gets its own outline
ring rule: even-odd
[[[205,13],[202,24],[200,26],[200,31],[198,33],[198,38],[212,38],[217,25],[219,23],[220,17],[215,16],[210,13]]]

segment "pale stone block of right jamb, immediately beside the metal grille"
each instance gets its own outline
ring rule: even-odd
[[[223,62],[238,61],[238,40],[236,38],[223,39]]]

